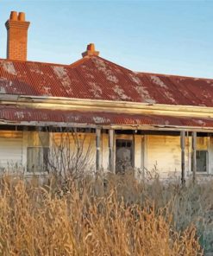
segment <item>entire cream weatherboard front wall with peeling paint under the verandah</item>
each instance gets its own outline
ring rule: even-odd
[[[96,134],[95,133],[48,133],[41,131],[0,131],[0,169],[15,170],[27,167],[28,147],[60,147],[63,144],[70,150],[76,150],[83,144],[83,156],[90,147],[90,160],[86,168],[95,170],[96,167]],[[140,177],[138,170],[152,170],[156,165],[160,177],[181,174],[181,149],[179,136],[162,135],[115,135],[116,139],[131,139],[134,141],[135,176]],[[67,144],[68,143],[68,144]],[[213,174],[213,138],[197,138],[197,150],[208,150],[209,173]],[[101,135],[100,163],[103,170],[109,170],[109,136]],[[191,176],[191,137],[185,138],[185,175]]]

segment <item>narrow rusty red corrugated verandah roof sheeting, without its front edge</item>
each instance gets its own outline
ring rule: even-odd
[[[0,120],[3,122],[58,122],[91,125],[162,125],[213,127],[212,118],[173,118],[169,116],[119,114],[110,112],[57,111],[47,109],[17,108],[0,106]]]

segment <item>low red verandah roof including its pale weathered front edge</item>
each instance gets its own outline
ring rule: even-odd
[[[213,130],[213,118],[171,117],[163,115],[115,112],[79,112],[75,110],[47,110],[16,106],[0,106],[2,125],[78,125],[145,129]],[[174,129],[175,128],[175,129]]]

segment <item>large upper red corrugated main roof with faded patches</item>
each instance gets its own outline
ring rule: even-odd
[[[70,66],[1,60],[0,93],[213,106],[213,80],[135,73],[98,56]]]

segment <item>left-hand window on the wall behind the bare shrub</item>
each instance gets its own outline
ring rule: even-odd
[[[47,147],[28,147],[27,170],[28,172],[45,172],[48,163]]]

